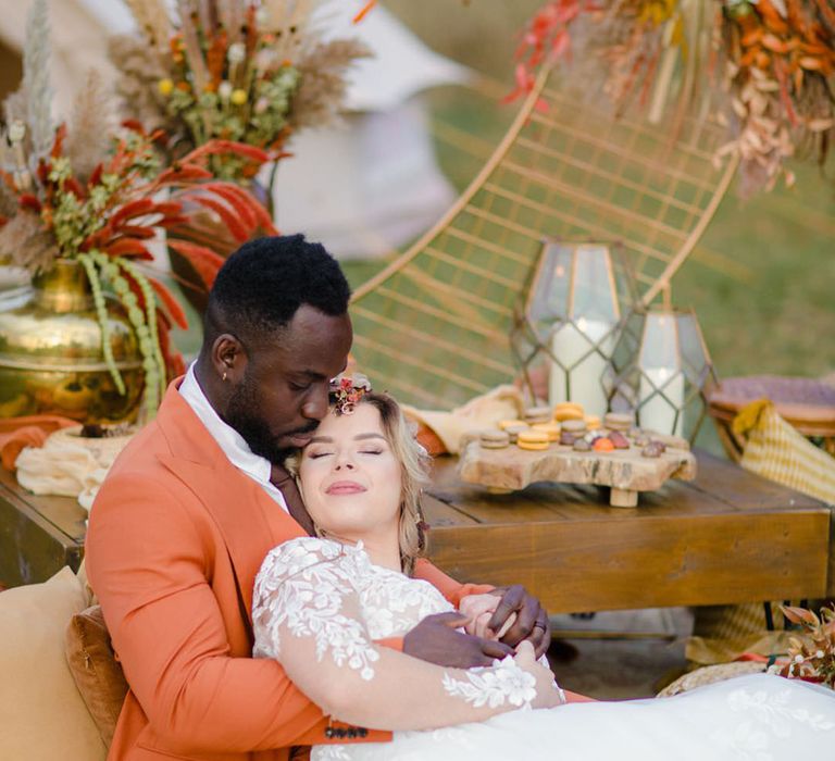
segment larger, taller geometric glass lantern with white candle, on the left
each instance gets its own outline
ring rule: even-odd
[[[620,246],[547,240],[514,315],[511,348],[531,396],[607,411],[602,384],[622,311],[635,301]]]

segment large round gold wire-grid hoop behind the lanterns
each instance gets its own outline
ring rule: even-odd
[[[702,113],[650,125],[540,73],[507,135],[447,214],[351,307],[354,354],[377,388],[449,409],[510,382],[513,307],[545,237],[620,241],[645,303],[696,245],[736,169]]]

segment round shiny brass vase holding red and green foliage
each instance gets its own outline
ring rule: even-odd
[[[78,262],[60,259],[30,286],[0,291],[0,417],[136,419],[145,378],[139,345],[115,297],[105,300],[124,395],[104,362],[92,291]]]

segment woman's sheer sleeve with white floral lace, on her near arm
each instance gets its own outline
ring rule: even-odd
[[[256,582],[256,657],[281,661],[325,713],[377,729],[481,721],[536,697],[535,678],[512,659],[468,672],[375,645],[358,594],[366,573],[363,551],[333,541],[275,548]]]

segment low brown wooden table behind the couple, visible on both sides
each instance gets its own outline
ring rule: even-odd
[[[637,508],[606,489],[538,484],[494,496],[439,459],[424,498],[433,560],[461,581],[524,584],[552,612],[835,596],[822,502],[698,452],[696,481]],[[77,569],[85,511],[0,472],[0,585]]]

